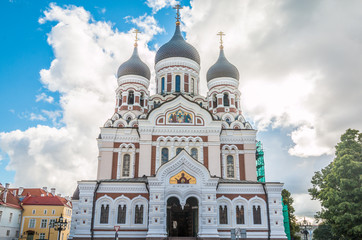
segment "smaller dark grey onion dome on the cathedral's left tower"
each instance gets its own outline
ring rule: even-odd
[[[118,68],[117,77],[125,75],[138,75],[145,77],[148,80],[151,78],[150,69],[138,56],[137,47],[134,48],[131,58],[121,64]]]

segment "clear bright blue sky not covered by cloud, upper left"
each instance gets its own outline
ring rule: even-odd
[[[38,124],[52,126],[49,118],[31,119],[31,114],[41,114],[42,110],[61,110],[59,93],[49,91],[39,81],[39,71],[48,68],[54,59],[51,46],[47,43],[47,34],[56,24],[46,22],[40,24],[39,18],[49,9],[50,3],[58,6],[83,6],[96,21],[110,21],[114,29],[128,31],[135,24],[127,17],[136,17],[151,14],[152,9],[144,1],[127,0],[115,1],[42,1],[42,0],[13,0],[1,1],[0,33],[0,132],[26,130]],[[184,5],[189,5],[183,1]],[[156,35],[149,46],[156,42],[165,42],[173,34],[173,19],[170,14],[174,10],[170,7],[156,13],[161,27],[168,30]],[[52,104],[46,101],[36,101],[36,96],[45,93],[54,98]],[[61,125],[61,122],[60,122]],[[9,158],[2,153],[0,161],[0,182],[13,182],[14,171],[7,171],[5,167]]]

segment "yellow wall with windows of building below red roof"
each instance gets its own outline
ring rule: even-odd
[[[72,217],[71,208],[65,206],[50,206],[50,205],[23,205],[23,208],[24,212],[21,221],[19,239],[36,240],[36,239],[41,239],[42,236],[45,236],[44,239],[50,239],[50,240],[68,239],[70,232],[71,217]],[[54,228],[50,228],[49,223],[51,220],[59,219],[61,213],[63,214],[64,221],[65,219],[67,219],[68,224],[66,230],[61,232],[60,239],[58,239],[58,232],[56,232]],[[35,219],[34,227],[30,226],[31,219]],[[42,219],[47,220],[46,225],[41,226]],[[33,238],[30,238],[28,231],[34,232]],[[43,233],[43,235],[41,233]]]

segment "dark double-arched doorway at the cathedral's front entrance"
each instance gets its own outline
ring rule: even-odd
[[[182,209],[176,197],[167,200],[167,232],[170,237],[197,237],[199,228],[199,203],[189,197]]]

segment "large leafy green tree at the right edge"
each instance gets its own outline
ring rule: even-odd
[[[341,239],[362,239],[362,133],[348,129],[336,146],[335,159],[312,178],[317,213]]]

